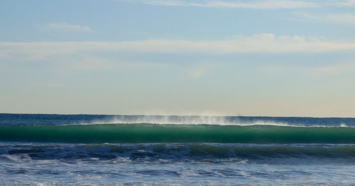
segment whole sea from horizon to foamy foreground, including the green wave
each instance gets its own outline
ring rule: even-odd
[[[355,118],[0,114],[1,186],[355,185]]]

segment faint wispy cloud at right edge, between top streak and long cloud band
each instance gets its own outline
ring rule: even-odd
[[[342,13],[342,14],[311,14],[305,11],[293,12],[294,15],[304,18],[305,21],[320,21],[332,22],[339,24],[355,24],[355,14]]]

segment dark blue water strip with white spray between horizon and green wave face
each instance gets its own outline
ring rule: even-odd
[[[74,124],[207,124],[279,126],[355,126],[354,118],[304,117],[222,117],[178,115],[60,115],[0,114],[0,126],[74,125]]]

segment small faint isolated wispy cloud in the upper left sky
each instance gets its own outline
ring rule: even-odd
[[[81,26],[78,24],[68,24],[65,22],[55,22],[47,24],[35,25],[40,31],[64,31],[64,32],[96,32],[88,26]]]

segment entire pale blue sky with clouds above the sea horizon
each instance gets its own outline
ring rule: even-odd
[[[0,113],[355,117],[355,0],[0,0]]]

